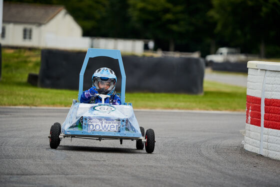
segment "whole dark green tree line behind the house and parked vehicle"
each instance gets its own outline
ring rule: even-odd
[[[279,0],[4,0],[62,4],[84,36],[153,39],[154,50],[238,47],[280,57]]]

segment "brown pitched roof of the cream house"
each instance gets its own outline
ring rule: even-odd
[[[29,3],[3,3],[3,22],[45,24],[64,6]]]

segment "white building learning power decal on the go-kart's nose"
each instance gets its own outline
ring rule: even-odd
[[[117,132],[120,127],[120,121],[117,120],[87,119],[87,123],[88,123],[88,132],[90,131]]]

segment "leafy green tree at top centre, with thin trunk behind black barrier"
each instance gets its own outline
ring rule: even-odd
[[[188,28],[183,0],[128,0],[129,13],[141,38],[169,42],[174,50],[174,40]]]

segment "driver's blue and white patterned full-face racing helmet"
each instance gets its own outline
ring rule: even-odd
[[[112,69],[101,67],[92,74],[92,86],[100,94],[111,95],[114,92],[116,76]]]

